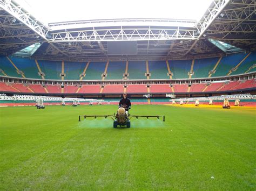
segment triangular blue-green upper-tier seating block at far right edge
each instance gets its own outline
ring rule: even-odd
[[[231,75],[235,74],[243,74],[245,73],[251,66],[256,64],[256,51],[252,52],[242,63],[241,65],[231,73]],[[255,69],[255,68],[254,68]],[[253,72],[250,70],[249,72]]]

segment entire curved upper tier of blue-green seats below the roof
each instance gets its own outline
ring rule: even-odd
[[[226,76],[230,73],[230,70],[238,65],[247,54],[238,53],[223,56],[218,63],[215,73],[211,77]],[[10,59],[10,60],[9,60]],[[0,56],[0,75],[11,77],[26,77],[31,79],[42,79],[39,76],[39,69],[44,73],[46,80],[80,80],[80,74],[83,73],[87,62],[69,62],[64,61],[48,61],[37,60],[39,68],[37,68],[36,61],[26,58],[7,58],[6,56]],[[206,58],[195,59],[193,66],[193,79],[198,77],[208,77],[208,73],[213,70],[220,58]],[[14,65],[12,65],[12,63]],[[102,80],[102,74],[105,71],[107,61],[102,62],[90,62],[83,80]],[[150,79],[170,79],[167,75],[166,61],[149,61],[149,73]],[[173,73],[173,79],[188,79],[188,72],[191,70],[192,60],[169,60],[170,70]],[[246,72],[256,72],[256,51],[252,52],[248,57],[241,62],[240,66],[230,73],[230,75],[237,75]],[[63,66],[63,67],[62,67]],[[18,70],[16,69],[18,68]],[[124,78],[126,61],[110,61],[107,67],[107,76],[105,80],[122,80]],[[251,69],[250,69],[251,68]],[[65,74],[64,77],[60,76],[62,70]],[[4,73],[3,73],[4,72]],[[129,80],[145,80],[146,73],[146,61],[129,61],[128,70]],[[22,75],[24,74],[24,75]]]

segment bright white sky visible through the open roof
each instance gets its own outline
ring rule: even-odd
[[[166,18],[199,20],[212,0],[15,0],[44,24],[73,20]]]

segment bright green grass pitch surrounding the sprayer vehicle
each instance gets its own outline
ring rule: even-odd
[[[255,190],[255,109],[133,105],[131,129],[113,129],[115,105],[0,108],[0,189]]]

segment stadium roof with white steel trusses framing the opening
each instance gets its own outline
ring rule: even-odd
[[[96,15],[99,12],[97,6],[90,9]],[[183,9],[185,6],[180,6],[179,10]],[[156,60],[219,56],[256,47],[253,0],[214,0],[199,20],[186,18],[189,20],[95,19],[45,25],[17,1],[0,0],[0,54],[12,55],[22,49],[24,52],[24,48],[41,43],[28,55],[56,60]],[[137,41],[137,55],[107,55],[107,41],[131,40]]]

